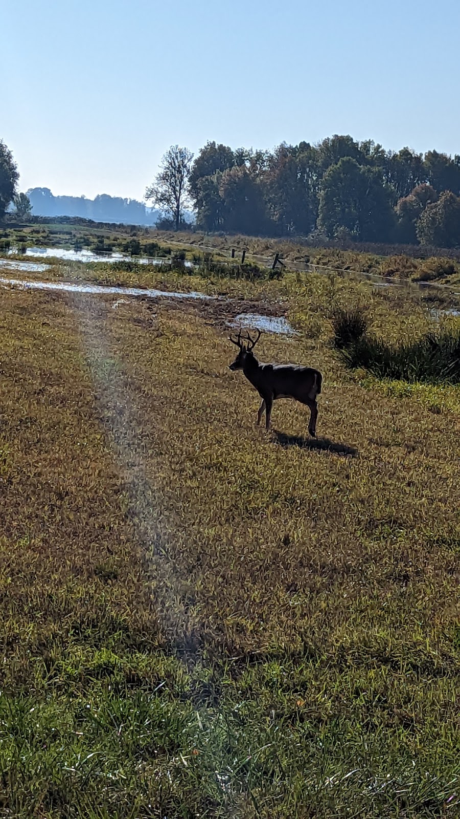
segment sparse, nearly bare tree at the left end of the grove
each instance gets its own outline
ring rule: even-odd
[[[146,190],[146,199],[153,200],[171,217],[176,230],[187,204],[187,181],[192,159],[193,154],[188,148],[172,145],[162,157],[154,183]]]

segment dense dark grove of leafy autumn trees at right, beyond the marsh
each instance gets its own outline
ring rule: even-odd
[[[460,245],[460,156],[335,135],[274,152],[207,143],[189,191],[208,231]]]

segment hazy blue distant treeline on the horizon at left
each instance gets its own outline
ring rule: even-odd
[[[27,196],[35,216],[81,216],[95,222],[153,225],[159,211],[136,199],[110,197],[107,193],[94,199],[55,197],[49,188],[30,188]]]

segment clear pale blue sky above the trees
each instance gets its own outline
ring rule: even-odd
[[[20,189],[142,198],[174,143],[460,153],[460,0],[3,0]]]

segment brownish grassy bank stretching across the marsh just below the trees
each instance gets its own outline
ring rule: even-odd
[[[460,283],[460,251],[435,247],[350,244],[350,247],[312,247],[302,239],[258,238],[187,231],[173,233],[123,224],[25,224],[0,229],[0,254],[11,248],[58,247],[95,252],[122,252],[128,256],[160,256],[165,263],[183,256],[203,264],[237,265],[246,250],[246,261],[271,267],[278,253],[287,268],[317,265],[321,269],[364,273],[413,282]],[[232,261],[232,251],[235,260]]]

